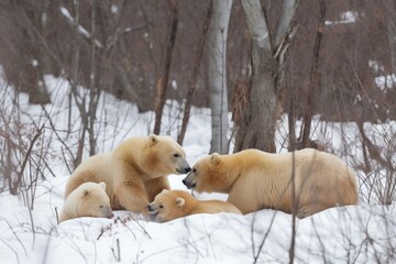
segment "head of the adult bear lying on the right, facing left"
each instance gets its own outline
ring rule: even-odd
[[[222,155],[213,153],[194,164],[191,172],[183,179],[188,189],[198,193],[229,193],[232,185],[232,170],[227,169]]]

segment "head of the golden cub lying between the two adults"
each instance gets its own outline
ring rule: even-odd
[[[194,198],[187,191],[164,189],[147,206],[150,219],[166,222],[185,217],[190,211],[191,201]]]

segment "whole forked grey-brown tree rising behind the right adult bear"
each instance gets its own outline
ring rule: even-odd
[[[251,34],[251,76],[241,123],[235,123],[235,151],[255,147],[275,152],[276,121],[280,114],[277,92],[283,79],[285,53],[294,35],[298,0],[284,0],[275,35],[260,0],[242,0]]]

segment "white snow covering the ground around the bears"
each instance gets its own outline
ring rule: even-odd
[[[36,182],[35,193],[22,187],[19,196],[7,190],[0,194],[0,263],[289,263],[293,217],[275,210],[246,216],[195,215],[167,223],[116,211],[113,219],[80,218],[57,224],[56,211],[62,208],[69,175],[66,165],[70,156],[65,145],[76,151],[80,121],[75,103],[69,117],[67,81],[52,76],[45,81],[51,87],[53,101],[45,106],[47,114],[41,107],[30,106],[28,96],[22,94],[18,96],[21,108],[18,120],[29,131],[45,123],[41,146],[48,147],[46,162],[56,177],[44,169],[46,179]],[[16,95],[11,88],[2,88],[0,92],[3,111],[12,117],[11,103]],[[79,88],[79,92],[86,91]],[[154,125],[153,112],[139,113],[136,106],[111,95],[101,96],[98,109],[98,152],[110,151],[130,136],[145,135]],[[167,101],[164,111],[163,131],[174,139],[180,127],[182,109],[177,102]],[[286,151],[286,124],[287,117],[284,117],[277,132],[279,152]],[[72,133],[65,132],[68,127]],[[395,134],[395,127],[394,122],[365,124],[366,131],[391,131],[391,134]],[[312,121],[312,138],[334,146],[336,155],[350,165],[362,161],[356,130],[353,123],[324,123],[319,117]],[[384,139],[378,138],[376,142],[387,144]],[[25,140],[29,142],[28,135]],[[193,108],[184,148],[190,164],[208,153],[209,109]],[[183,177],[169,176],[170,186],[186,189]],[[376,199],[367,205],[363,198],[370,195],[369,190],[363,183],[361,186],[359,206],[332,208],[304,220],[296,219],[295,263],[395,261],[395,207],[380,206]],[[227,196],[202,194],[199,198],[227,199]]]

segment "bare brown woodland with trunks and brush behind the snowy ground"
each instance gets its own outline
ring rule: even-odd
[[[363,156],[354,167],[386,169],[388,204],[396,191],[394,123],[381,132],[381,144],[364,124],[396,117],[395,11],[392,0],[1,1],[0,64],[7,86],[26,92],[31,105],[51,102],[45,76],[69,82],[69,106],[76,103],[81,118],[70,170],[85,151],[98,152],[98,101],[107,91],[140,112],[153,110],[150,132],[157,134],[170,134],[161,128],[164,105],[179,102],[180,144],[190,107],[210,108],[210,152],[275,152],[282,114],[287,150],[332,152],[312,139],[312,117],[353,122]],[[1,116],[4,187],[16,191],[32,150],[14,140],[21,132],[6,111]],[[40,129],[31,132],[31,145]],[[11,162],[15,152],[21,157]]]

